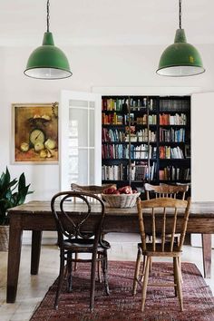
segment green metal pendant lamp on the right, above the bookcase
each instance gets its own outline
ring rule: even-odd
[[[161,54],[156,71],[162,76],[185,77],[205,72],[198,50],[187,43],[184,29],[181,28],[181,0],[179,4],[180,29],[176,31],[174,44],[170,44]]]

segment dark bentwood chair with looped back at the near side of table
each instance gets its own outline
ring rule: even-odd
[[[91,205],[89,200],[96,200],[100,203],[100,215],[96,222],[90,227],[85,223],[90,220]],[[71,211],[70,201],[75,198],[75,210]],[[58,232],[58,245],[60,248],[60,273],[54,307],[58,307],[58,299],[63,287],[64,267],[66,265],[67,289],[72,291],[72,264],[73,262],[91,263],[91,293],[90,310],[93,310],[95,270],[96,263],[102,262],[102,273],[106,294],[109,295],[108,287],[108,259],[107,250],[110,244],[102,239],[102,224],[105,215],[105,208],[102,199],[91,193],[62,191],[53,196],[51,208],[56,222]],[[85,228],[84,228],[85,227]],[[77,258],[77,253],[88,253],[90,258]]]

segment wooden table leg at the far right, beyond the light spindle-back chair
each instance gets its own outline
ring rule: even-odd
[[[211,234],[201,234],[204,277],[211,277]]]

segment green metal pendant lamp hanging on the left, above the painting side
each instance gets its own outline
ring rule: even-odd
[[[47,0],[47,32],[43,45],[31,53],[24,74],[36,79],[63,79],[70,77],[69,62],[63,51],[54,46],[53,34],[49,32],[49,0]]]

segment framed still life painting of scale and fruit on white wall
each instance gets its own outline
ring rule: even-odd
[[[58,102],[13,103],[13,162],[58,162]]]

